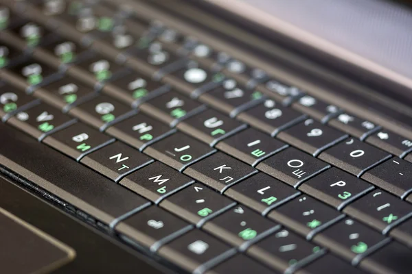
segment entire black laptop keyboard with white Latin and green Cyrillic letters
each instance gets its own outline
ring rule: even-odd
[[[409,273],[412,140],[124,5],[2,2],[3,171],[185,271]]]

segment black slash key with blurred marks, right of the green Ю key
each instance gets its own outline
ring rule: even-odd
[[[248,255],[282,273],[290,266],[301,261],[310,262],[323,253],[321,247],[312,245],[288,229],[282,229],[247,249]]]

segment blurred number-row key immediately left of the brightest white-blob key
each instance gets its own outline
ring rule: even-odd
[[[181,59],[176,53],[163,49],[161,42],[153,42],[150,47],[140,49],[131,56],[126,66],[135,68],[137,71],[141,71],[141,64],[149,66],[154,72],[151,75],[153,79],[160,79],[163,75],[178,71],[187,64],[187,60]]]

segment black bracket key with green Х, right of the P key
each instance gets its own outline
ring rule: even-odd
[[[374,190],[351,203],[343,212],[387,234],[412,215],[412,206],[383,190]]]

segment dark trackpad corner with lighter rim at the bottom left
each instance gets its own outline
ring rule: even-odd
[[[2,273],[49,273],[67,264],[76,253],[62,242],[0,208]]]

